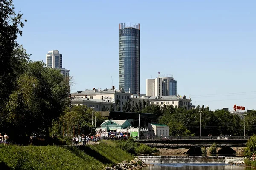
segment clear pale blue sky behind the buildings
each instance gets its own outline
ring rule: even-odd
[[[32,60],[58,49],[72,92],[118,88],[119,23],[140,23],[140,91],[173,74],[177,93],[211,110],[256,109],[255,0],[14,0]]]

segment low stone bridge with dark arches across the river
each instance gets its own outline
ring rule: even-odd
[[[150,147],[156,147],[161,154],[202,154],[201,148],[206,149],[209,154],[209,147],[217,144],[217,154],[242,154],[247,139],[202,139],[202,140],[138,140]]]

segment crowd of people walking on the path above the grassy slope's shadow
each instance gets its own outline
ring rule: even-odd
[[[96,136],[84,136],[84,135],[79,135],[78,136],[73,136],[72,138],[72,145],[86,145],[86,144],[97,144],[98,143],[98,139],[96,138]]]

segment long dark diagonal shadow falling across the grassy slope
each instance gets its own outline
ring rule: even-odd
[[[87,146],[63,146],[64,148],[67,148],[70,150],[73,154],[76,156],[79,156],[81,159],[85,159],[84,155],[79,152],[79,150],[84,151],[87,155],[93,157],[94,159],[102,162],[102,164],[111,164],[113,163],[110,159],[106,158],[105,156],[102,156],[99,152],[96,150],[93,150],[90,147]]]

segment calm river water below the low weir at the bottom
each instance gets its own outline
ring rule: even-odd
[[[154,164],[154,166],[144,167],[141,170],[255,170],[251,167],[230,165],[230,164],[212,164],[212,163],[196,163],[196,164]]]

